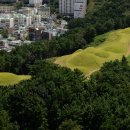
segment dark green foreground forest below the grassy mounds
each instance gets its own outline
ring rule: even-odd
[[[0,126],[7,130],[129,129],[130,67],[125,57],[105,63],[89,80],[77,70],[45,61],[30,69],[30,81],[0,87]]]

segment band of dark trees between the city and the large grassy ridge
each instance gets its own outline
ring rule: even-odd
[[[129,0],[95,0],[93,5],[84,19],[70,20],[70,31],[63,36],[17,47],[11,53],[0,52],[0,71],[28,74],[35,60],[71,54],[91,46],[96,35],[130,26]]]

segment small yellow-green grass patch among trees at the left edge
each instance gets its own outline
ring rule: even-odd
[[[28,79],[31,79],[31,76],[0,72],[0,86],[15,85]]]

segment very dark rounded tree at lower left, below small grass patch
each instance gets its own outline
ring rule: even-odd
[[[33,92],[21,86],[9,96],[8,107],[11,120],[18,122],[20,130],[47,129],[45,103]]]

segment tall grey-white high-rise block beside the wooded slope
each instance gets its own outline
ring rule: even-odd
[[[83,18],[86,14],[87,0],[59,0],[59,13],[74,18]]]

